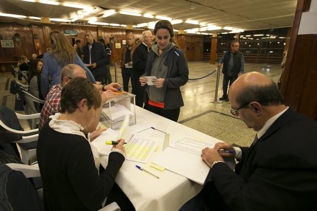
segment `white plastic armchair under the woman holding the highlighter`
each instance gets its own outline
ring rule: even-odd
[[[30,165],[24,165],[19,163],[7,163],[6,165],[9,166],[11,169],[22,172],[24,176],[27,178],[41,176],[37,164],[30,166]],[[43,189],[37,190],[37,193],[39,195],[39,198],[42,200]],[[101,208],[98,211],[120,211],[120,207],[118,206],[116,202],[112,202],[111,204]]]

